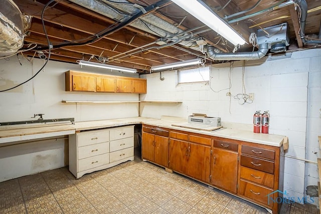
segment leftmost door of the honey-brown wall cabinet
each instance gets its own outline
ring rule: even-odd
[[[95,77],[72,75],[73,91],[95,91]]]

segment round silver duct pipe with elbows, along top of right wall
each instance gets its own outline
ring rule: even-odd
[[[207,55],[213,60],[258,60],[264,57],[267,53],[268,44],[259,45],[259,49],[255,52],[240,52],[240,53],[216,53],[215,48],[207,46]]]

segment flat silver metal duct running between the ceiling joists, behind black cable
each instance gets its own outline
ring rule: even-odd
[[[127,16],[126,14],[132,15],[141,10],[144,10],[144,8],[138,5],[133,5],[125,0],[118,0],[118,2],[121,4],[104,0],[70,0],[70,2],[73,2],[77,5],[80,5],[84,8],[87,8],[91,11],[119,22],[125,21],[125,17]],[[123,12],[124,14],[119,13],[117,10]],[[146,14],[144,17],[141,17],[140,19],[132,22],[130,26],[148,32],[152,35],[156,35],[158,37],[171,38],[171,40],[173,41],[180,40],[182,37],[186,37],[188,35],[182,34],[180,36],[173,37],[173,35],[183,33],[183,31],[175,25],[172,25],[171,23],[168,23],[165,20],[158,18],[152,14]],[[181,41],[179,44],[197,51],[201,51],[201,48],[196,44],[196,42]]]

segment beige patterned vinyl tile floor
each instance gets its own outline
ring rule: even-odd
[[[0,213],[268,212],[135,157],[80,179],[63,167],[1,182]],[[318,213],[318,209],[283,204],[281,213]]]

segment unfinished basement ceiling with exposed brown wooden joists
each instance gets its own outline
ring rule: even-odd
[[[38,44],[38,47],[24,52],[24,55],[38,57],[37,50],[46,54],[48,43],[42,26],[41,14],[45,5],[50,1],[14,0],[14,2],[23,14],[33,17],[24,43],[25,47],[31,43]],[[251,33],[282,23],[288,24],[290,42],[287,50],[318,48],[318,44],[302,44],[297,33],[299,32],[299,19],[295,4],[282,8],[274,7],[286,2],[204,1],[248,43],[240,46],[236,52],[253,51],[253,45],[248,41]],[[159,4],[158,9],[153,9],[137,19],[129,16],[149,9],[148,6],[157,3]],[[306,3],[308,10],[304,29],[306,40],[309,38],[319,40],[321,1],[309,0]],[[244,13],[251,8],[254,9]],[[263,10],[265,12],[261,12]],[[231,17],[236,13],[240,15]],[[252,14],[257,14],[257,16],[247,18]],[[132,22],[125,24],[125,20],[130,17]],[[122,28],[114,28],[120,23],[123,25]],[[233,44],[221,38],[171,1],[57,0],[46,8],[44,24],[53,45],[51,60],[69,63],[76,63],[77,60],[92,62],[104,60],[105,63],[111,65],[137,69],[140,73],[149,73],[151,66],[196,58],[206,57],[207,64],[222,62],[208,58],[204,46],[199,46],[196,43],[197,40],[203,39],[207,45],[213,46],[216,52],[232,53],[234,49]],[[82,44],[94,40],[97,37],[94,35],[102,31],[106,33],[102,38],[93,43]],[[87,39],[83,40],[84,38]],[[165,42],[157,42],[159,40]],[[75,43],[78,44],[74,45]],[[257,48],[258,46],[254,48],[254,51]]]

